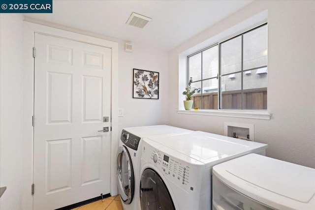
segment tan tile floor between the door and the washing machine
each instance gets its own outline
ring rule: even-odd
[[[120,201],[120,196],[115,195],[102,200],[95,201],[93,203],[77,207],[73,210],[123,210],[122,203]]]

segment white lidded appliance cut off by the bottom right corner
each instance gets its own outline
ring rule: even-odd
[[[214,210],[315,210],[315,169],[258,154],[213,167]]]

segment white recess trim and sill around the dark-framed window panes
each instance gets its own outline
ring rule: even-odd
[[[221,43],[224,40],[235,37],[241,33],[252,30],[258,26],[267,23],[268,11],[265,10],[260,12],[253,17],[222,31],[221,33],[199,43],[195,46],[187,49],[186,51],[179,54],[179,100],[178,100],[178,114],[189,114],[189,115],[209,115],[209,116],[221,116],[221,117],[235,117],[235,118],[247,118],[247,119],[260,119],[260,120],[270,120],[272,114],[268,113],[267,110],[184,110],[183,100],[185,100],[182,91],[185,90],[187,85],[187,56],[192,55],[194,52],[200,51],[200,49],[205,49],[207,46],[213,46],[214,43]]]

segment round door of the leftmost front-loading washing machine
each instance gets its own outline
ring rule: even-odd
[[[119,147],[117,151],[118,190],[121,200],[130,204],[134,194],[133,166],[128,149]]]

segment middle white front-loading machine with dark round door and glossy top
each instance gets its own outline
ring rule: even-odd
[[[144,138],[141,151],[141,210],[210,210],[212,167],[266,144],[205,132]]]

